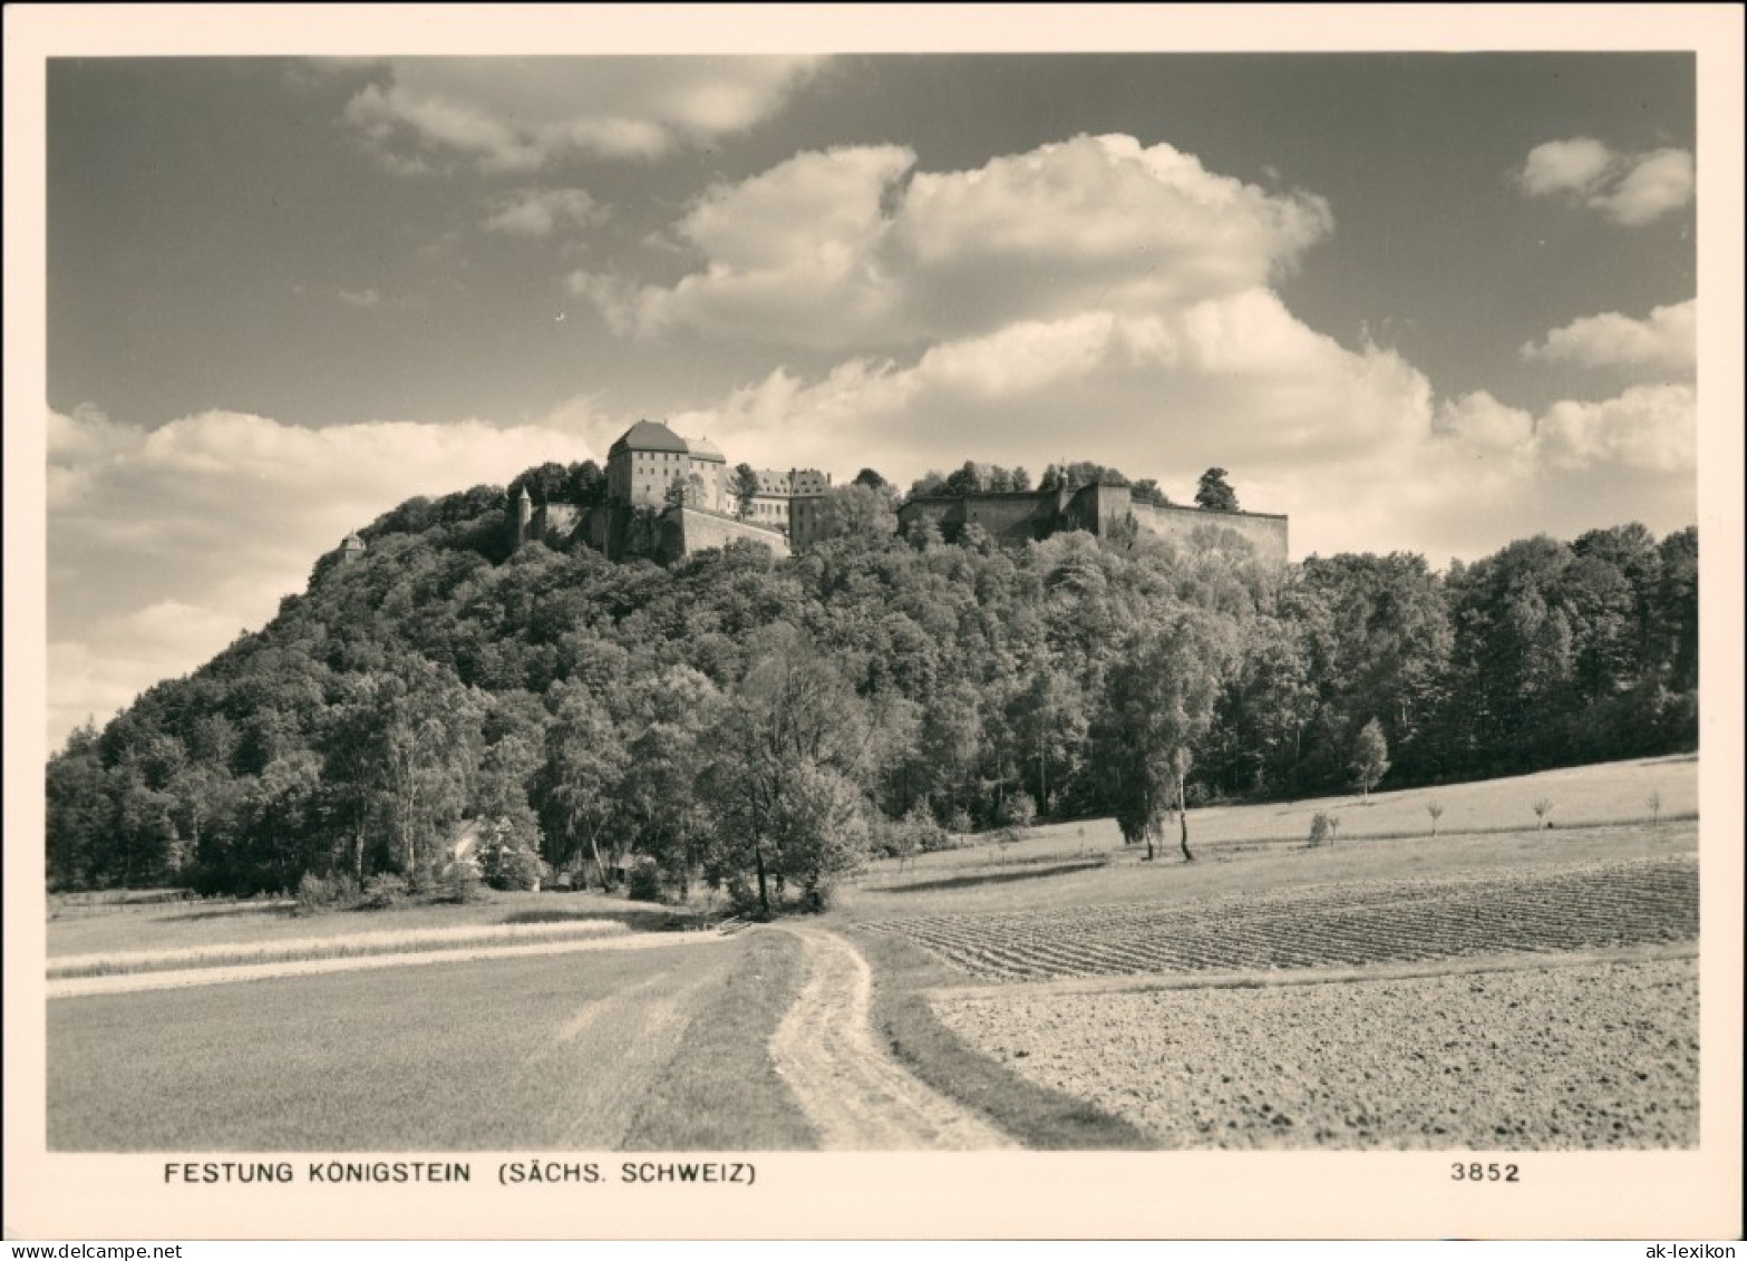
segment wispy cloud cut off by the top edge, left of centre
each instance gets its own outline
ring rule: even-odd
[[[746,131],[816,58],[407,58],[346,105],[390,164],[535,171],[573,155],[652,159]]]

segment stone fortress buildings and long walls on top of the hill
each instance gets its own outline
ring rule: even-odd
[[[659,421],[638,421],[606,452],[599,503],[535,503],[524,486],[507,510],[512,545],[582,538],[615,561],[632,555],[676,561],[737,538],[790,555],[823,536],[830,473],[816,468],[753,472],[758,489],[741,505],[720,447],[708,438],[683,438]],[[1197,548],[1216,547],[1223,536],[1235,534],[1258,557],[1277,564],[1286,562],[1286,524],[1284,515],[1267,512],[1141,503],[1127,486],[1104,482],[1048,491],[924,494],[898,508],[903,533],[933,527],[949,543],[959,541],[971,526],[1008,547],[1069,529],[1102,538],[1139,531]]]

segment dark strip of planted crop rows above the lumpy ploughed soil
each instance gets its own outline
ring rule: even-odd
[[[1181,903],[973,913],[870,924],[987,980],[1412,962],[1686,941],[1688,858],[1548,875],[1324,885]]]

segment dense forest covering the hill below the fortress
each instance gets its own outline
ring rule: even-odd
[[[599,482],[547,465],[508,493]],[[51,891],[416,891],[472,830],[498,887],[821,906],[870,852],[987,828],[1113,814],[1151,845],[1212,800],[1698,741],[1696,527],[1281,568],[1216,512],[1186,548],[905,538],[865,473],[795,557],[659,568],[512,554],[505,501],[400,505],[262,630],[73,732]]]

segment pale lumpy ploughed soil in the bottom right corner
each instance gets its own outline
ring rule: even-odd
[[[1254,989],[1006,985],[949,990],[935,1009],[984,1055],[1160,1147],[1698,1142],[1691,959]]]

